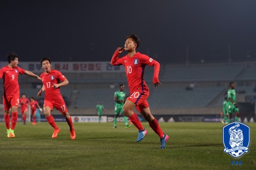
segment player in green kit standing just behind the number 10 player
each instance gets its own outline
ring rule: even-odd
[[[114,127],[113,128],[117,128],[117,118],[119,116],[120,113],[124,113],[123,111],[123,106],[124,103],[126,101],[126,96],[125,96],[125,92],[124,92],[124,85],[119,85],[119,91],[115,92],[114,94],[114,101],[116,102],[115,104],[115,117],[114,117]],[[128,125],[127,123],[127,117],[125,115],[123,115],[124,117],[124,123],[125,123],[125,127],[131,127],[131,125]]]

